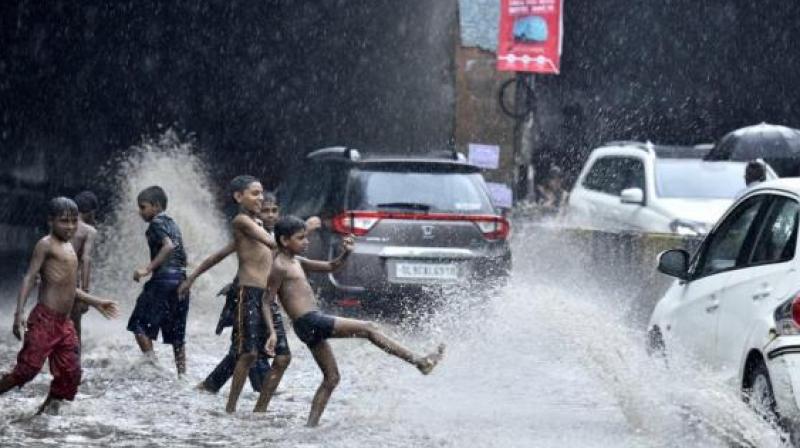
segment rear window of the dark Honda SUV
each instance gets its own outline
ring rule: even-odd
[[[477,173],[355,171],[348,205],[357,210],[494,212]]]

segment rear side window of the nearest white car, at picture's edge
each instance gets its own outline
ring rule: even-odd
[[[780,263],[794,258],[798,211],[797,201],[776,197],[753,251],[753,264]]]

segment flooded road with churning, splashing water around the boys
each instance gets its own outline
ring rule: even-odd
[[[218,230],[224,219],[204,190],[204,168],[188,154],[181,147],[144,151],[118,182],[129,202],[141,187],[165,187],[168,212],[196,264],[226,237]],[[180,175],[143,169],[163,163]],[[514,235],[510,284],[495,296],[457,292],[435,314],[382,323],[416,350],[447,344],[432,375],[368,342],[333,340],[342,380],[321,426],[305,428],[321,375],[292,334],[292,364],[268,413],[250,412],[257,397],[246,385],[239,411],[227,415],[227,386],[218,395],[194,386],[229,346],[228,332],[213,334],[222,302],[212,296],[233,266],[211,271],[193,291],[187,377],[175,377],[168,346],[156,348],[160,366],[144,362],[124,329],[141,288],[129,277],[147,259],[144,224],[132,204],[121,206],[104,229],[95,288],[120,300],[123,317],[106,322],[87,315],[84,380],[60,415],[30,418],[47,393],[49,374],[0,397],[0,446],[780,446],[779,432],[713,374],[680,357],[669,367],[650,359],[641,323],[630,321],[613,292],[598,293],[572,275],[536,272],[537,239],[524,230]],[[4,303],[8,317],[11,300]],[[4,369],[20,347],[10,327],[10,318],[0,326]]]

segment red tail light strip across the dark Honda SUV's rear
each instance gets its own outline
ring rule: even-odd
[[[382,219],[472,222],[487,240],[505,240],[511,232],[508,220],[501,216],[449,213],[346,211],[333,218],[332,227],[336,233],[342,235],[352,233],[356,236],[364,236]]]

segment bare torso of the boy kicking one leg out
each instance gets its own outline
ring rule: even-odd
[[[319,308],[299,257],[278,253],[270,273],[270,289],[273,288],[292,320]]]

